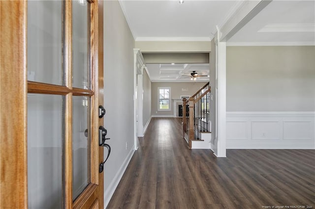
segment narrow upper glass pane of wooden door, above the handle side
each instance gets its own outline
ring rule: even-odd
[[[73,82],[72,86],[89,89],[89,14],[90,4],[86,0],[72,1],[72,48]]]

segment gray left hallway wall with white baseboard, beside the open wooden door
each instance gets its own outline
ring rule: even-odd
[[[133,48],[119,2],[104,1],[104,127],[112,148],[104,166],[105,207],[134,152]]]

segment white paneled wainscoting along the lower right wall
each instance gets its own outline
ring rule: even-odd
[[[226,112],[226,149],[315,149],[315,112]]]

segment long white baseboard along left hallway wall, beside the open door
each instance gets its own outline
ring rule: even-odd
[[[132,147],[132,149],[130,150],[130,152],[128,153],[126,159],[124,160],[122,166],[119,168],[117,174],[115,175],[112,183],[109,184],[108,186],[108,189],[106,189],[106,191],[104,192],[104,209],[106,209],[110,199],[112,198],[120,180],[122,179],[125,171],[126,171],[126,168],[133,156],[133,153],[134,153],[134,146]]]

